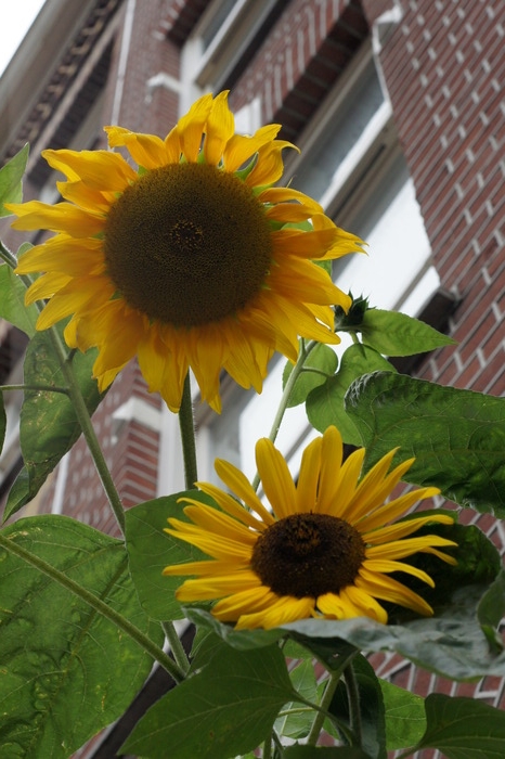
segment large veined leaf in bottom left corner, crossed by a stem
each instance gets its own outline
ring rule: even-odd
[[[2,530],[150,633],[122,542],[65,516]],[[152,667],[139,645],[77,595],[0,549],[2,756],[64,759],[129,706]]]

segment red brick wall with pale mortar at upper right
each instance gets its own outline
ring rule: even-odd
[[[381,63],[442,286],[461,304],[457,350],[422,376],[502,395],[505,304],[505,7],[500,0],[402,2]],[[374,0],[363,2],[372,24]],[[406,246],[407,255],[407,246]]]

